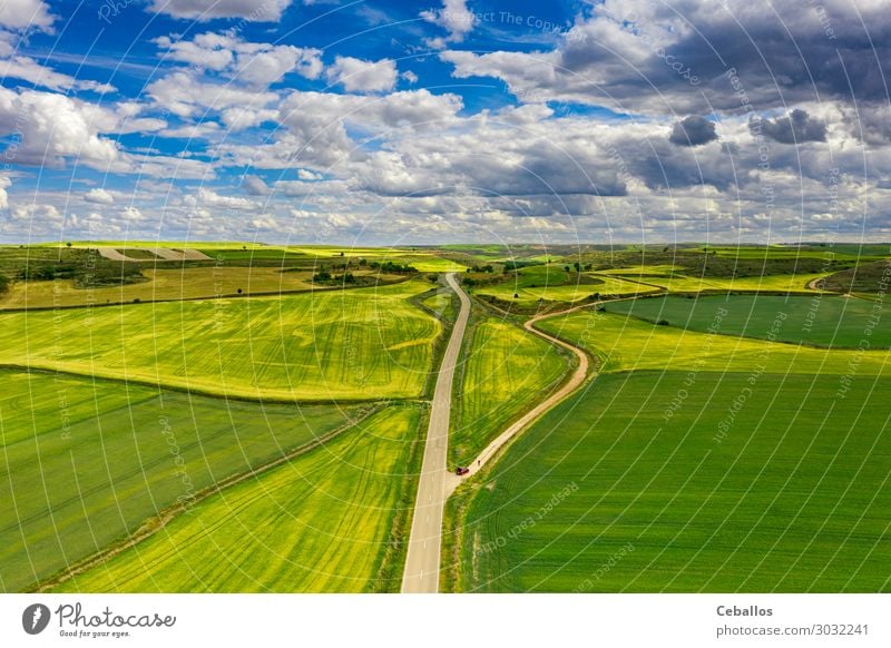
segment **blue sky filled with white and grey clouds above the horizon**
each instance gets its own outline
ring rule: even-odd
[[[0,0],[0,240],[891,240],[887,0]]]

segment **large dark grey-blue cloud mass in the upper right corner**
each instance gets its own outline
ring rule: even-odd
[[[797,0],[605,0],[554,49],[447,51],[441,58],[454,66],[456,77],[498,78],[523,101],[620,112],[738,112],[850,101],[852,86],[859,101],[887,102],[880,61],[891,58],[891,24],[881,2],[856,7],[825,2],[821,14],[802,11]]]

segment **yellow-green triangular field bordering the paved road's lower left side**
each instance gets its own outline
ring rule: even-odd
[[[409,510],[422,411],[395,406],[322,448],[196,504],[72,579],[81,592],[350,592],[381,587]],[[420,453],[418,453],[420,454]],[[408,528],[409,517],[402,516]],[[399,534],[396,534],[398,537]],[[398,590],[393,573],[383,589]]]

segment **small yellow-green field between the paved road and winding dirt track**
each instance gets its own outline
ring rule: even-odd
[[[457,465],[467,465],[544,400],[569,366],[554,345],[495,318],[476,325],[466,344],[449,439],[450,463]]]

